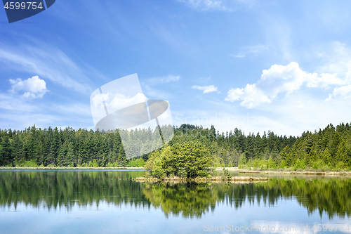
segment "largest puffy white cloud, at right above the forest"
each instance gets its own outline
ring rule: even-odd
[[[348,83],[347,79],[340,79],[337,74],[308,73],[303,71],[298,63],[291,62],[286,66],[272,65],[270,69],[263,70],[256,84],[247,84],[244,89],[230,89],[225,100],[231,102],[241,100],[241,106],[256,108],[262,103],[271,103],[279,93],[289,96],[303,84],[308,88],[329,89],[331,85],[340,86]]]

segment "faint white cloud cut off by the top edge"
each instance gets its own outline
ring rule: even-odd
[[[236,11],[251,8],[255,0],[178,0],[198,11]]]

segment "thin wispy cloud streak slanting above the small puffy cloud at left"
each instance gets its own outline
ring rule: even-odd
[[[40,44],[41,46],[1,46],[0,64],[11,70],[38,74],[41,78],[50,79],[81,93],[91,90],[86,84],[89,82],[88,77],[71,58],[58,48]],[[101,77],[89,67],[86,70]]]

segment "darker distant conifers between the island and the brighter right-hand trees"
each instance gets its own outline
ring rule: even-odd
[[[292,147],[296,141],[294,136],[277,136],[272,131],[256,135],[244,134],[239,129],[220,134],[214,126],[204,129],[201,126],[183,124],[175,129],[175,137],[170,145],[184,141],[199,141],[206,145],[214,158],[217,167],[237,167],[240,156],[245,160],[256,158],[268,159],[279,157],[280,152],[286,147]]]

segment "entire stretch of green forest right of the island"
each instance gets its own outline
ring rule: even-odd
[[[245,135],[239,129],[219,134],[212,126],[182,125],[172,143],[201,141],[207,145],[217,167],[239,166],[247,169],[351,170],[351,125],[329,124],[314,133],[299,137],[266,134]]]

